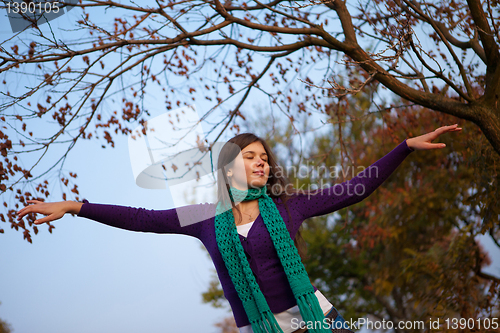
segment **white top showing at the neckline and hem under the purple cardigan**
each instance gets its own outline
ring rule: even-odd
[[[250,228],[252,228],[254,222],[255,221],[250,223],[245,223],[242,225],[237,225],[236,230],[240,235],[246,237],[248,235],[248,232],[250,231]],[[318,298],[319,306],[321,307],[321,310],[323,310],[323,313],[327,313],[328,311],[331,310],[333,305],[326,299],[326,297],[319,290],[316,290],[314,295]],[[290,309],[285,310],[283,312],[274,313],[274,318],[276,318],[276,321],[283,330],[283,333],[291,333],[297,330],[297,328],[292,328],[293,318],[298,319],[293,321],[295,323],[294,327],[297,327],[297,323],[303,322],[302,315],[300,314],[300,309],[298,305],[295,305],[294,307],[291,307]],[[253,333],[252,325],[239,327],[239,330],[240,333]]]

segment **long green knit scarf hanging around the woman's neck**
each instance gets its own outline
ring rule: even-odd
[[[266,187],[251,188],[241,191],[230,188],[230,197],[234,202],[259,199],[259,210],[264,224],[271,236],[274,247],[285,269],[288,282],[306,322],[313,322],[312,333],[331,333],[323,323],[324,315],[319,305],[314,288],[302,264],[297,248],[293,244],[285,222],[279,214],[273,200],[267,195]],[[255,280],[250,264],[241,245],[231,207],[217,205],[215,217],[215,236],[231,281],[238,292],[245,312],[255,333],[283,333],[273,313],[269,309],[262,291]]]

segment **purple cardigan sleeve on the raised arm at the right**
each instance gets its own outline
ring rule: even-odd
[[[302,221],[358,203],[375,191],[412,151],[405,140],[356,177],[311,194],[299,193],[291,202]]]

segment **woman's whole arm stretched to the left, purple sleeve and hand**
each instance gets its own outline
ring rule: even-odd
[[[150,210],[108,204],[94,204],[84,200],[41,202],[29,200],[34,205],[26,206],[18,212],[18,219],[28,213],[48,215],[37,219],[36,224],[50,222],[64,216],[65,213],[77,214],[112,227],[142,232],[175,233],[199,238],[200,221],[213,216],[213,205],[198,204],[167,210]]]

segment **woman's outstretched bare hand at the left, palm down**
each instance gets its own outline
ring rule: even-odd
[[[28,213],[40,213],[47,215],[41,219],[37,219],[35,224],[42,224],[60,219],[66,213],[73,213],[75,208],[77,208],[75,204],[78,205],[78,203],[72,201],[43,202],[38,200],[28,200],[27,202],[34,203],[34,205],[29,205],[20,209],[17,212],[17,219],[22,219],[23,216]]]

